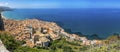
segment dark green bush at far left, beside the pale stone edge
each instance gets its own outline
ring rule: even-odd
[[[0,34],[0,39],[2,40],[5,47],[10,51],[15,50],[17,47],[24,43],[24,41],[15,40],[13,36],[8,35],[7,33]]]

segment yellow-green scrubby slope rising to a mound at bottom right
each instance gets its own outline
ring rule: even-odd
[[[103,41],[105,44],[94,46],[90,45],[85,52],[120,52],[120,38],[112,35]]]

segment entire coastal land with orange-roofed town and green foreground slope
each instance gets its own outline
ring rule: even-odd
[[[12,52],[118,52],[120,49],[119,36],[111,36],[106,40],[88,40],[65,32],[54,22],[37,19],[4,19],[3,23],[5,31],[0,32],[0,39]]]

